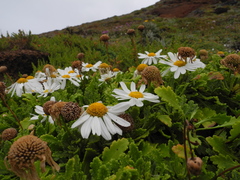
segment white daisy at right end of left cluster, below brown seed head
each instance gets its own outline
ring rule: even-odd
[[[80,79],[77,77],[77,73],[71,68],[66,67],[65,69],[57,69],[60,76],[57,78],[60,79],[61,89],[66,87],[67,80],[71,81],[75,86],[80,86]]]

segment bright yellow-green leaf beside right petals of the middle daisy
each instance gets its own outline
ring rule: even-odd
[[[179,105],[178,97],[170,86],[157,87],[154,89],[154,92],[159,97],[161,97],[163,101],[166,101],[170,106],[182,111],[181,106]]]

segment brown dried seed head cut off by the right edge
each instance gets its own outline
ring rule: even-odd
[[[238,54],[230,54],[222,59],[220,63],[233,70],[234,73],[240,73],[240,56]]]

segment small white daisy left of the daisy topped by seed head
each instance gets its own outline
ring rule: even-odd
[[[143,59],[141,64],[148,64],[148,65],[157,64],[159,59],[167,57],[166,55],[160,55],[161,52],[162,52],[162,49],[160,49],[156,53],[153,53],[153,52],[149,53],[148,51],[145,51],[146,54],[138,53],[139,55],[138,58]]]

